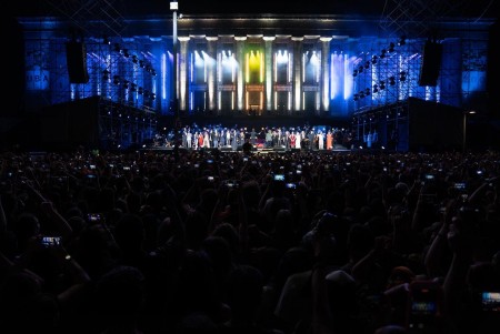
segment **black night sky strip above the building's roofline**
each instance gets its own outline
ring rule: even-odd
[[[414,1],[414,0],[406,0]],[[169,0],[107,0],[122,16],[162,14],[170,12]],[[426,2],[426,1],[424,1]],[[443,8],[452,16],[498,17],[498,0],[428,0],[434,9]],[[96,0],[17,0],[9,7],[14,14],[53,14],[71,12],[84,6],[99,3]],[[353,13],[383,14],[394,7],[394,0],[179,0],[181,13]],[[408,2],[410,3],[410,2]],[[438,3],[441,3],[438,7]]]

